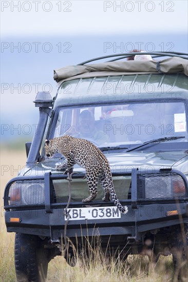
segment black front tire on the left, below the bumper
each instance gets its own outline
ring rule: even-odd
[[[14,261],[17,281],[44,282],[48,271],[48,250],[35,235],[16,233]]]

